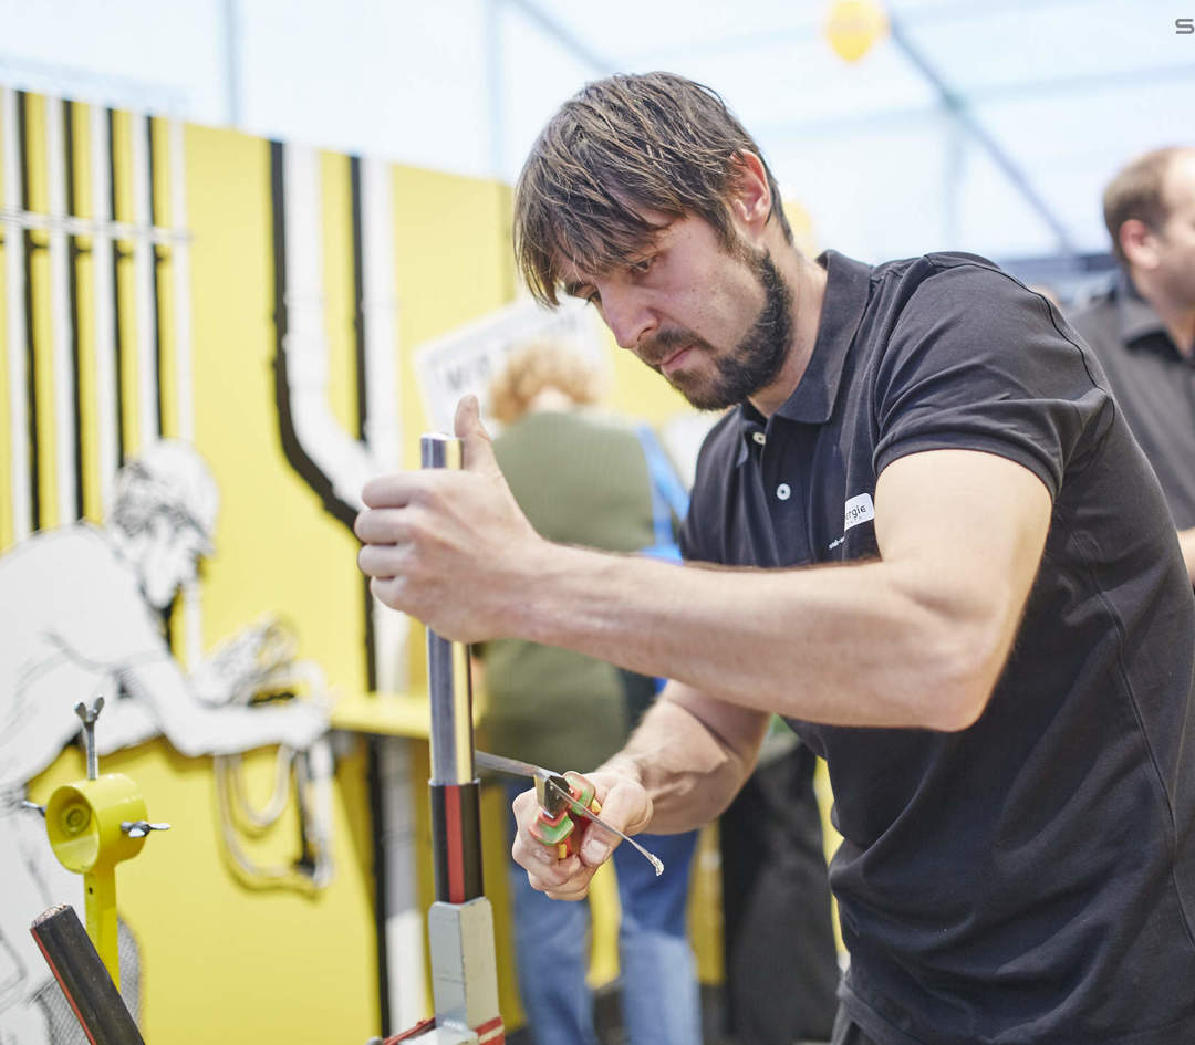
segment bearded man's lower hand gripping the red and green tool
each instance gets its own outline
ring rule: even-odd
[[[601,818],[611,826],[635,835],[644,830],[651,820],[651,798],[637,780],[614,769],[587,773],[601,803]],[[533,889],[552,899],[583,899],[589,892],[594,872],[608,859],[621,841],[617,835],[603,831],[598,824],[586,822],[580,830],[581,852],[559,860],[554,849],[545,846],[531,834],[531,826],[539,816],[539,803],[534,791],[526,791],[514,803],[519,831],[510,849],[515,862],[526,868]]]

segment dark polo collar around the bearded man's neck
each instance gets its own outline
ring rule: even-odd
[[[870,265],[838,251],[826,251],[817,258],[817,264],[827,275],[817,339],[801,383],[776,412],[777,417],[802,424],[825,424],[829,420],[842,382],[846,355],[863,320],[871,289]],[[742,402],[739,423],[742,431],[739,462],[742,463],[748,443],[755,432],[764,430],[766,422],[750,402]]]

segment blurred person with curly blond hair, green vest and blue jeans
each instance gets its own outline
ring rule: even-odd
[[[649,467],[649,454],[652,461],[662,454],[643,429],[595,408],[599,388],[594,369],[559,345],[513,350],[490,391],[492,413],[504,425],[495,453],[543,536],[635,553],[660,543],[662,514],[654,505],[661,498],[652,488],[658,467]],[[667,509],[662,522],[672,540]],[[538,766],[601,764],[623,746],[655,694],[655,680],[553,646],[497,639],[478,652],[486,690],[482,729],[491,750]],[[510,785],[511,800],[523,787]],[[631,1045],[700,1045],[685,924],[697,832],[644,844],[663,860],[661,878],[629,846],[614,857],[624,1026]],[[588,905],[550,899],[513,862],[510,885],[520,992],[535,1040],[595,1045],[586,985]]]

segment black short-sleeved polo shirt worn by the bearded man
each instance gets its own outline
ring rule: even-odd
[[[711,431],[686,558],[874,558],[876,478],[921,450],[999,454],[1053,497],[975,725],[792,723],[844,836],[844,1004],[883,1045],[1195,1041],[1195,600],[1157,480],[1089,350],[991,263],[822,263],[809,368]]]

